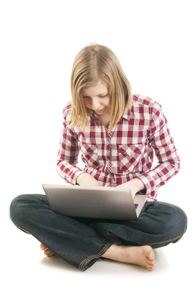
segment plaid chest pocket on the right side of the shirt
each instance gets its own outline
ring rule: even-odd
[[[119,165],[122,171],[133,172],[138,165],[144,153],[144,144],[119,146]]]

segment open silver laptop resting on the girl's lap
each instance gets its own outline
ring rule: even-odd
[[[130,188],[42,184],[51,209],[72,217],[137,220],[147,195],[132,198]]]

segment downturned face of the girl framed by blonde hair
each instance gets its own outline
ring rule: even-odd
[[[98,81],[96,87],[83,89],[82,96],[85,106],[94,110],[97,115],[103,115],[110,111],[108,89],[101,81]]]

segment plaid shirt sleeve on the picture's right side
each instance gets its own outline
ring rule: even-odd
[[[153,190],[164,185],[180,170],[180,159],[167,122],[167,118],[162,113],[161,104],[155,101],[152,108],[151,129],[148,140],[154,148],[159,165],[137,177],[145,186],[144,190],[139,191],[140,194],[150,195]]]

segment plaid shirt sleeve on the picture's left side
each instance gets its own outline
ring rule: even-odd
[[[78,135],[73,132],[67,123],[67,111],[63,110],[63,127],[60,140],[60,148],[57,155],[56,170],[60,177],[68,183],[76,185],[76,178],[86,173],[75,164],[78,163]]]

